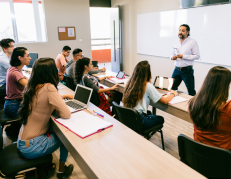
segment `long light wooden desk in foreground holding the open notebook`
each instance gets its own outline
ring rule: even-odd
[[[64,88],[59,93],[63,95],[74,92]],[[88,109],[102,113],[104,120],[111,122],[113,127],[85,139],[54,120],[52,127],[89,179],[204,178],[93,104],[89,104]]]

